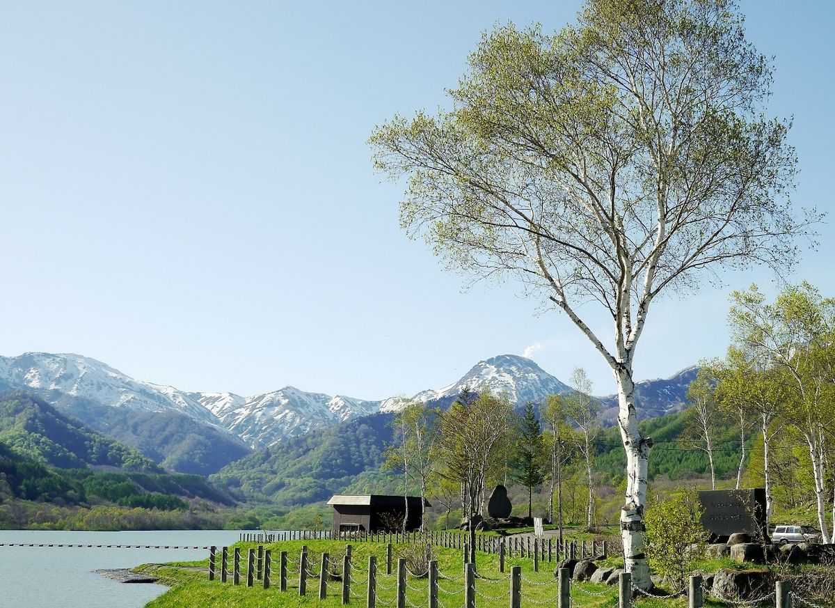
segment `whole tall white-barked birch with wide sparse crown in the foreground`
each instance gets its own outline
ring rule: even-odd
[[[627,461],[625,568],[650,588],[644,551],[652,442],[633,368],[661,293],[797,253],[787,200],[789,124],[762,117],[772,66],[733,0],[586,0],[553,36],[512,24],[483,36],[453,109],[377,127],[375,164],[409,177],[401,223],[448,265],[508,272],[564,312],[617,383]],[[597,302],[614,334],[586,314]]]

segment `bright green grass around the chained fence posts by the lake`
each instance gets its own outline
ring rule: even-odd
[[[326,551],[331,560],[339,566],[331,566],[331,571],[341,570],[342,555],[345,555],[347,543],[333,540],[289,541],[265,545],[271,549],[273,567],[271,588],[263,589],[261,581],[254,587],[246,587],[245,564],[247,550],[254,544],[238,543],[241,553],[241,585],[229,582],[221,583],[208,580],[208,559],[196,562],[182,562],[168,565],[142,565],[136,570],[160,577],[160,582],[171,589],[146,605],[146,608],[212,608],[240,606],[241,608],[264,608],[265,606],[307,606],[309,608],[337,608],[342,605],[342,581],[331,580],[327,585],[327,598],[318,599],[319,580],[308,578],[307,595],[298,593],[298,560],[301,546],[307,545],[310,556],[309,570],[318,572],[321,554]],[[281,592],[278,588],[278,555],[282,550],[288,552],[288,589]],[[404,553],[404,545],[395,545],[394,559]],[[220,552],[219,552],[220,553]],[[230,550],[230,566],[231,569]],[[386,575],[386,546],[377,543],[352,544],[352,588],[350,605],[364,608],[366,605],[368,555],[377,556],[377,606],[393,608],[396,605],[396,575]],[[460,550],[435,548],[438,560],[440,580],[438,582],[439,608],[460,608],[463,606],[463,560]],[[333,561],[331,563],[333,563]],[[615,565],[617,558],[610,558],[608,563]],[[220,569],[220,555],[218,555]],[[534,572],[530,560],[506,560],[507,573],[498,571],[498,555],[478,554],[478,575],[476,581],[476,605],[478,608],[507,608],[509,605],[509,568],[519,565],[522,568],[522,605],[523,608],[536,608],[539,605],[555,606],[558,586],[554,579],[555,563],[543,563],[539,572]],[[394,566],[396,571],[396,564]],[[420,608],[428,605],[428,581],[426,578],[407,575],[407,608]],[[576,583],[571,586],[572,605],[576,608],[612,608],[617,605],[617,590],[607,585]],[[686,598],[657,600],[638,598],[638,608],[681,608],[686,606]],[[707,606],[721,605],[711,601]]]

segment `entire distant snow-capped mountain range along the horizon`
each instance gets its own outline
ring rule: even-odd
[[[695,368],[689,368],[667,380],[638,383],[636,399],[641,418],[657,416],[681,407]],[[507,393],[518,407],[542,403],[554,393],[570,393],[571,388],[545,372],[525,357],[500,355],[478,362],[463,377],[443,388],[417,393],[412,399],[445,407],[467,388],[473,392],[489,389]],[[410,401],[392,397],[382,401],[331,397],[285,387],[271,393],[242,397],[235,393],[188,393],[177,388],[135,380],[103,362],[76,354],[28,352],[20,357],[0,357],[0,390],[24,389],[38,393],[67,413],[90,423],[102,420],[99,431],[108,433],[108,425],[122,428],[118,438],[131,437],[129,416],[136,413],[177,413],[196,425],[190,433],[216,437],[221,433],[251,448],[270,446],[284,438],[330,427],[372,413],[396,413]],[[605,406],[605,420],[614,419],[614,396],[600,398]],[[93,404],[92,406],[90,404]],[[93,409],[91,409],[93,407]],[[101,410],[124,412],[121,423],[104,421]],[[82,411],[81,408],[86,408]],[[99,413],[96,413],[99,411]],[[200,428],[214,429],[203,433]],[[170,446],[180,439],[169,438]],[[211,440],[210,440],[211,441]],[[129,442],[128,442],[129,443]],[[140,447],[137,445],[136,447]]]

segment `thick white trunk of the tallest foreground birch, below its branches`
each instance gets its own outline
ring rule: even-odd
[[[644,437],[638,428],[635,413],[635,383],[632,370],[625,365],[615,374],[618,385],[618,425],[626,450],[625,505],[620,509],[620,536],[624,545],[625,570],[632,575],[633,584],[650,589],[650,565],[645,554],[646,526],[646,471],[652,439]]]

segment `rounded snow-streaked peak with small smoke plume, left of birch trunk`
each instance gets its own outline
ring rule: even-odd
[[[489,389],[491,393],[507,393],[519,406],[540,403],[554,393],[570,393],[571,388],[545,372],[542,367],[519,355],[499,355],[476,363],[463,377],[438,390],[414,396],[423,402],[451,402],[467,388],[473,392]]]

